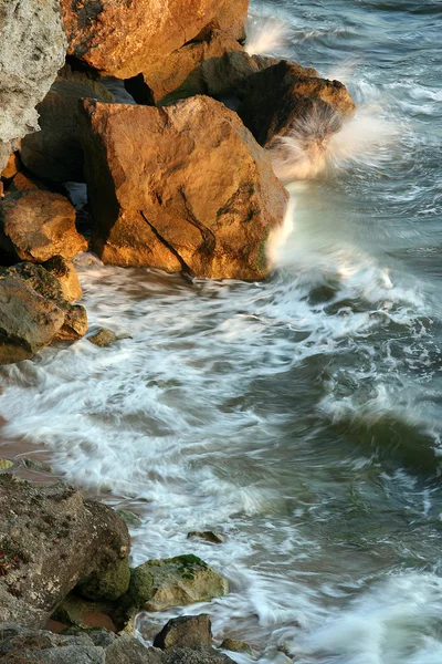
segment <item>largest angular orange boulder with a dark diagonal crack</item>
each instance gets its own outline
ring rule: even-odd
[[[86,101],[85,174],[104,262],[259,279],[287,193],[238,116],[196,96],[156,108]]]

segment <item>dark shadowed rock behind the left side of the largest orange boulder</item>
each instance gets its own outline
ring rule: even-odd
[[[114,102],[103,83],[64,68],[63,76],[56,77],[36,107],[41,132],[30,134],[21,143],[22,162],[34,175],[55,183],[84,181],[83,153],[75,131],[82,97]]]

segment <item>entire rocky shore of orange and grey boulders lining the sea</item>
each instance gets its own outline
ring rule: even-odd
[[[86,334],[78,252],[190,278],[269,274],[286,139],[320,115],[302,142],[324,151],[355,104],[312,68],[249,54],[248,4],[0,0],[0,364]],[[133,103],[116,103],[109,76]],[[87,186],[86,210],[69,183]],[[91,342],[115,339],[102,330]],[[206,615],[171,621],[150,649],[135,639],[139,611],[229,589],[197,557],[131,569],[129,552],[110,508],[2,471],[0,661],[229,662]]]

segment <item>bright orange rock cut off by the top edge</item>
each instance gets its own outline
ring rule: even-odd
[[[147,75],[211,24],[239,37],[241,0],[61,0],[69,54],[117,79]],[[219,17],[219,18],[218,18]]]

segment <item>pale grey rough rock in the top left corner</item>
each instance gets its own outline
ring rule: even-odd
[[[57,0],[0,0],[0,170],[17,139],[38,128],[38,104],[63,65]]]

